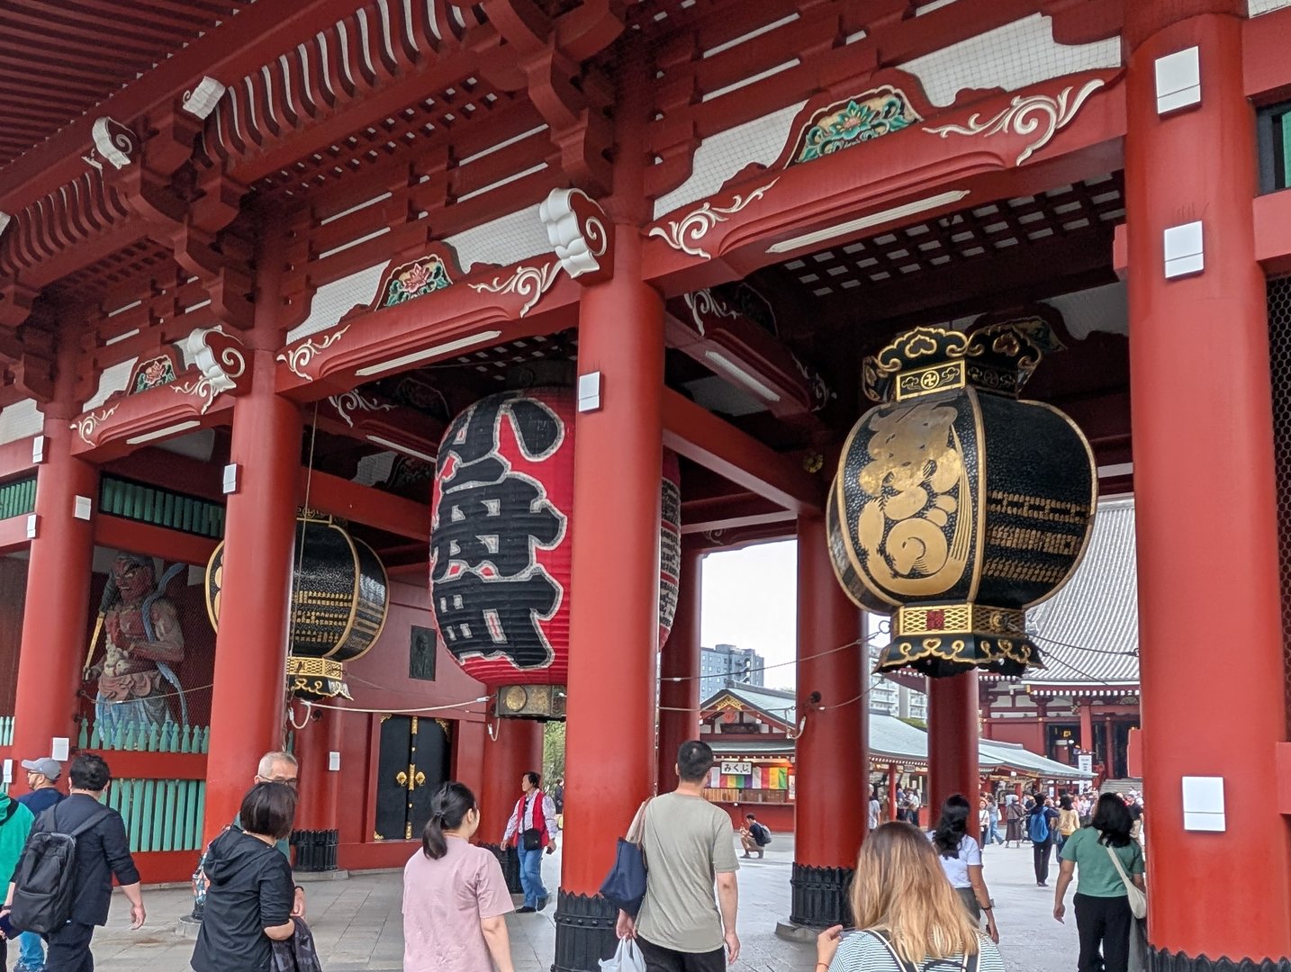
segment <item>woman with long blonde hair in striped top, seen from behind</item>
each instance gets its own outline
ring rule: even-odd
[[[1004,972],[937,862],[909,824],[884,824],[861,844],[852,879],[855,932],[834,926],[816,940],[816,972]],[[949,972],[949,969],[948,969]]]

